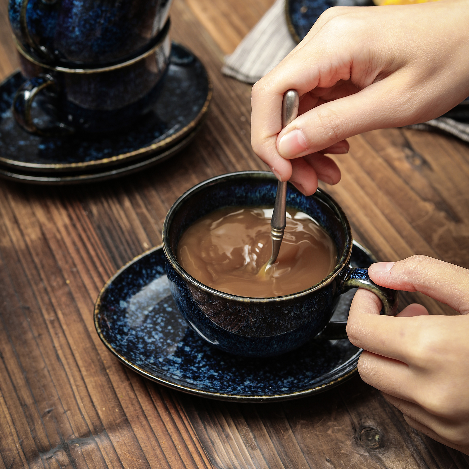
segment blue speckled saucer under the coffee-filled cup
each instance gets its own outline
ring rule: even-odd
[[[351,262],[371,254],[354,242]],[[136,257],[99,293],[94,321],[100,339],[121,362],[159,384],[224,401],[287,400],[320,393],[356,373],[361,349],[321,335],[292,352],[253,359],[229,355],[200,338],[169,293],[161,246]],[[342,295],[333,321],[346,320],[354,292]]]

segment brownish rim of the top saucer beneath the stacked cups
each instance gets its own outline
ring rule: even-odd
[[[184,139],[187,135],[189,135],[194,129],[197,128],[197,126],[202,122],[204,116],[206,115],[208,108],[210,106],[212,96],[213,96],[213,81],[212,78],[209,76],[207,68],[203,64],[203,62],[197,57],[196,54],[194,54],[188,47],[179,44],[175,41],[172,41],[172,47],[173,45],[177,45],[179,47],[182,47],[183,49],[186,49],[191,53],[201,64],[202,67],[205,70],[205,74],[207,77],[207,96],[205,98],[203,106],[200,108],[199,113],[197,116],[189,122],[186,126],[184,126],[181,130],[178,132],[174,133],[173,135],[170,135],[163,140],[160,140],[159,142],[155,144],[150,144],[147,146],[144,146],[142,148],[138,148],[137,150],[134,151],[128,151],[127,153],[121,153],[118,155],[114,155],[108,158],[103,158],[103,159],[96,159],[92,161],[83,161],[79,163],[47,163],[47,164],[39,164],[39,163],[27,163],[27,162],[22,162],[22,161],[17,161],[15,159],[8,159],[4,158],[0,155],[0,163],[11,167],[15,168],[16,170],[23,170],[25,172],[33,172],[33,171],[60,171],[60,172],[66,172],[66,171],[80,171],[83,169],[89,169],[89,170],[99,170],[100,166],[113,166],[117,165],[119,163],[124,163],[126,160],[132,161],[133,159],[136,159],[140,156],[144,156],[145,154],[152,154],[156,151],[159,150],[164,150],[166,147],[169,145],[176,143],[182,139]],[[168,64],[168,67],[171,66],[171,63]],[[5,85],[5,83],[8,82],[11,78],[13,78],[15,75],[20,74],[21,75],[21,70],[17,68],[13,73],[11,73],[9,76],[7,76],[1,83],[0,87]]]

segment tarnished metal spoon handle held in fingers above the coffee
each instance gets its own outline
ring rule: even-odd
[[[295,120],[298,115],[298,106],[300,98],[297,91],[288,90],[283,95],[282,102],[282,129],[291,121]],[[283,233],[287,226],[287,181],[279,181],[277,185],[277,195],[275,196],[275,204],[273,205],[272,219],[270,226],[272,227],[272,256],[268,265],[272,265],[279,255],[280,245],[283,239]]]

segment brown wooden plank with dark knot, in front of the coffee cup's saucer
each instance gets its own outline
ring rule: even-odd
[[[275,404],[181,399],[217,468],[467,467],[460,453],[452,458],[445,446],[411,429],[359,378],[337,391]]]

